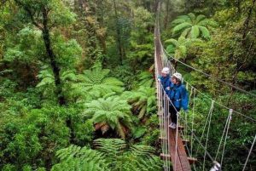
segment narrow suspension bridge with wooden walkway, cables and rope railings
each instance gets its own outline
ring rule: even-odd
[[[158,14],[156,15],[156,22],[154,27],[154,68],[155,68],[155,77],[160,75],[160,71],[163,67],[169,67],[170,75],[176,72],[175,68],[172,66],[172,63],[168,59],[176,60],[180,62],[182,65],[189,67],[195,71],[201,72],[206,77],[211,77],[207,73],[200,71],[192,66],[188,66],[184,64],[182,61],[174,59],[172,55],[168,54],[163,48],[161,40],[160,40],[160,24],[159,24],[159,12],[160,6],[158,8]],[[157,80],[157,79],[156,79]],[[230,123],[232,122],[232,117],[241,117],[243,119],[247,119],[249,122],[255,124],[256,120],[253,117],[248,117],[241,112],[234,111],[229,107],[218,103],[215,100],[212,100],[206,94],[201,93],[200,90],[192,86],[186,80],[183,80],[186,88],[189,90],[189,108],[190,114],[189,120],[188,115],[183,114],[181,112],[177,112],[177,128],[172,129],[169,128],[168,125],[171,123],[171,117],[169,113],[169,107],[172,104],[172,100],[168,98],[165,90],[162,88],[160,82],[156,83],[156,91],[157,91],[157,105],[158,105],[158,117],[160,124],[160,142],[161,142],[161,154],[160,157],[163,160],[163,168],[165,171],[174,170],[174,171],[190,171],[190,170],[211,170],[211,171],[220,171],[227,170],[224,169],[228,164],[238,164],[238,163],[227,163],[224,161],[225,152],[226,152],[226,144],[230,131]],[[249,92],[237,88],[230,83],[226,83],[223,80],[220,80],[220,83],[225,83],[232,88],[236,88],[241,90],[241,92],[250,94]],[[206,117],[205,122],[203,124],[203,131],[201,136],[198,137],[196,135],[195,130],[195,99],[196,96],[201,95],[205,100],[208,101],[208,111],[206,115],[202,115],[201,117]],[[255,94],[251,94],[255,97]],[[218,108],[225,112],[223,127],[219,129],[219,137],[220,140],[216,142],[211,142],[209,140],[209,134],[212,130],[212,115],[214,114],[214,109]],[[252,145],[250,149],[247,151],[247,159],[242,161],[241,170],[247,170],[247,163],[250,159],[250,156],[253,151],[253,146],[255,144],[256,135],[254,136]],[[215,151],[209,151],[209,145],[216,144]],[[195,147],[197,144],[197,147]],[[201,153],[201,154],[199,154]],[[197,158],[199,157],[200,158]],[[201,162],[202,164],[198,168],[196,162]],[[256,163],[254,163],[256,166]],[[255,167],[256,168],[256,167]]]

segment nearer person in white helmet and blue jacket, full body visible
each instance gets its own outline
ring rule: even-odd
[[[172,83],[169,83],[169,87],[166,87],[166,93],[172,103],[169,106],[169,112],[171,113],[172,123],[170,128],[176,128],[177,126],[177,111],[181,108],[187,113],[189,105],[189,96],[187,89],[182,84],[182,75],[178,72],[172,75]]]

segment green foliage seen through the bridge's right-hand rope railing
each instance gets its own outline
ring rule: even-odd
[[[222,103],[229,101],[230,96],[220,96],[218,100],[221,100]],[[241,106],[244,104],[238,105],[241,101],[247,104],[247,107],[243,108],[243,112],[247,113],[248,117],[255,118],[255,109],[252,108],[252,105],[255,100],[250,100],[250,98],[247,95],[244,94],[234,94],[232,96],[232,100],[230,100],[230,104],[233,104],[230,106],[230,108],[234,109],[235,111],[240,111]],[[192,103],[190,101],[190,103]],[[195,109],[194,114],[192,110],[189,111],[188,117],[188,124],[191,128],[192,119],[194,119],[194,134],[197,137],[201,137],[201,134],[203,133],[203,127],[204,124],[207,121],[207,115],[208,111],[211,106],[211,100],[208,100],[205,98],[205,96],[201,94],[195,95]],[[184,121],[184,113],[181,113],[182,122]],[[194,116],[193,116],[194,115]],[[208,148],[207,151],[211,151],[212,155],[216,155],[218,145],[221,139],[221,136],[224,131],[224,125],[228,118],[229,110],[224,109],[223,106],[220,106],[218,104],[214,105],[214,109],[212,112],[212,122],[210,125],[210,132],[209,132],[209,139],[208,139]],[[194,118],[193,118],[194,117]],[[184,123],[182,123],[184,124]],[[228,133],[228,137],[226,140],[226,146],[225,146],[225,153],[224,153],[224,163],[225,167],[224,170],[240,170],[242,166],[236,165],[236,164],[228,164],[231,161],[235,162],[244,162],[246,160],[247,155],[241,155],[238,151],[246,151],[248,152],[248,149],[250,148],[250,145],[252,145],[252,140],[254,136],[255,125],[253,124],[253,121],[248,120],[246,117],[242,117],[241,115],[237,114],[236,112],[233,112],[232,119],[230,121],[230,129]],[[189,134],[191,130],[189,129]],[[201,142],[202,144],[205,144],[207,141],[206,138],[207,129],[205,130],[204,136],[202,136]],[[189,136],[190,137],[190,136]],[[191,138],[191,137],[190,137]],[[222,145],[220,146],[220,151],[218,153],[217,160],[220,160],[221,158],[221,152],[223,150],[224,142],[222,142]],[[194,152],[197,152],[196,157],[203,157],[204,149],[201,148],[201,145],[198,143],[194,144],[193,147]],[[195,153],[194,153],[195,154]],[[251,161],[253,162],[253,160]],[[201,167],[199,165],[198,167]],[[211,168],[211,163],[209,163],[209,168]]]

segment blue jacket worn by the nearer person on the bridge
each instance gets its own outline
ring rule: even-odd
[[[174,85],[166,93],[168,94],[170,100],[172,100],[173,105],[176,108],[183,108],[184,111],[189,108],[189,95],[187,89],[184,85]]]

